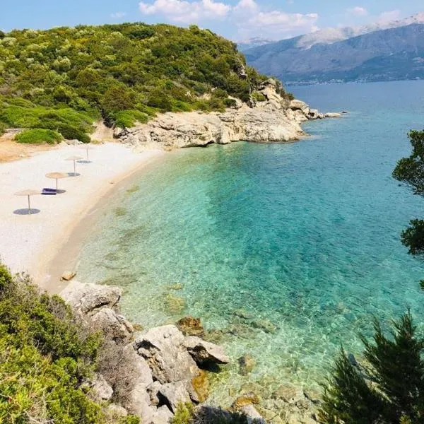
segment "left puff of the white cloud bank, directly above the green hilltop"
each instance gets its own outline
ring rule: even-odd
[[[155,0],[152,4],[141,1],[143,15],[162,15],[181,23],[194,23],[205,18],[223,18],[231,6],[213,0]]]

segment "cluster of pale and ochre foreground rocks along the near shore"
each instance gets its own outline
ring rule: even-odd
[[[199,416],[242,413],[247,423],[313,424],[319,399],[282,384],[269,399],[247,389],[229,409],[208,406],[210,373],[230,363],[221,346],[201,338],[199,319],[186,317],[175,325],[141,330],[119,310],[122,290],[110,285],[71,281],[61,297],[90,329],[102,331],[105,343],[98,372],[86,385],[96,401],[108,403],[114,418],[134,414],[143,424],[171,423],[180,404],[193,404]],[[249,373],[254,360],[238,360]]]

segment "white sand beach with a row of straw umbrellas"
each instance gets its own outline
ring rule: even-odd
[[[35,282],[44,285],[48,279],[47,265],[66,245],[73,228],[93,206],[110,192],[114,185],[128,177],[163,151],[135,153],[118,143],[93,146],[89,151],[92,163],[76,163],[79,177],[59,179],[56,196],[31,196],[34,215],[18,215],[13,211],[28,208],[28,198],[15,196],[23,189],[41,190],[55,187],[48,172],[73,172],[72,155],[86,159],[79,146],[59,146],[32,158],[0,164],[0,258],[13,272],[26,271]]]

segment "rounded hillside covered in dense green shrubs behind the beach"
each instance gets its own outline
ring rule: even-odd
[[[195,25],[0,32],[0,131],[89,141],[100,117],[131,126],[158,111],[223,110],[234,102],[228,95],[247,101],[264,79],[234,43]]]

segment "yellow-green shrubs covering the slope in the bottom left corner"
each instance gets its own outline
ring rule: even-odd
[[[0,423],[105,423],[81,389],[101,341],[61,298],[0,264]]]

